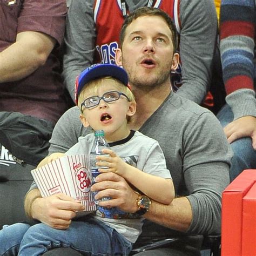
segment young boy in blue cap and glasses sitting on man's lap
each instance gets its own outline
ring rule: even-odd
[[[93,255],[128,255],[142,231],[142,215],[149,209],[150,199],[170,204],[174,198],[170,171],[158,142],[131,131],[127,125],[136,111],[136,102],[122,68],[95,64],[84,70],[77,78],[76,102],[83,125],[104,130],[112,149],[103,150],[109,156],[97,157],[99,167],[109,167],[100,172],[115,172],[136,188],[138,211],[125,213],[112,208],[109,210],[112,214],[106,216],[106,207],[98,207],[96,214],[83,221],[72,221],[67,230],[34,225],[23,237],[21,256],[40,255],[56,246]],[[93,133],[80,137],[66,154],[89,154],[93,140]],[[100,192],[96,197],[100,199]],[[114,200],[114,194],[110,200]]]

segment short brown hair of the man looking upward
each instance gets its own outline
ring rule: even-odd
[[[168,14],[166,14],[166,12],[164,12],[163,10],[160,10],[158,8],[152,8],[152,7],[138,8],[137,10],[135,10],[125,18],[120,31],[120,37],[119,37],[120,48],[122,48],[124,43],[124,37],[125,37],[127,26],[129,26],[135,19],[143,16],[159,16],[165,20],[166,24],[169,26],[169,29],[171,30],[171,33],[172,33],[173,52],[176,52],[178,47],[177,30],[172,22],[171,17]]]

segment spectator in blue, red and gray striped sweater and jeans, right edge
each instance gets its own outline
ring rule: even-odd
[[[220,52],[226,105],[218,113],[234,152],[230,177],[256,168],[254,0],[221,1]]]

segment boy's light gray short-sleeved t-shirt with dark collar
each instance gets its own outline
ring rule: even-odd
[[[154,176],[170,179],[171,174],[166,169],[164,153],[157,140],[151,139],[138,131],[133,133],[131,132],[131,136],[126,139],[110,143],[111,149],[126,163],[139,170]],[[87,134],[85,137],[80,137],[78,143],[72,146],[66,154],[90,154],[94,138],[93,133]],[[103,214],[107,215],[108,213],[110,215],[114,214],[114,216],[110,216],[110,218],[102,217]],[[99,207],[96,218],[123,234],[131,242],[135,242],[142,232],[142,218],[138,219],[134,214],[126,216],[124,212],[112,211],[111,213],[111,210],[107,211]]]

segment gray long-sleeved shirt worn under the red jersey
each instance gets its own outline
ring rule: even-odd
[[[126,3],[132,12],[145,6],[147,0],[126,0]],[[95,0],[72,1],[66,20],[63,77],[73,99],[76,77],[93,63],[96,51],[94,4]],[[211,64],[217,38],[215,6],[212,0],[180,0],[179,10],[183,85],[177,93],[201,104],[211,83]]]

